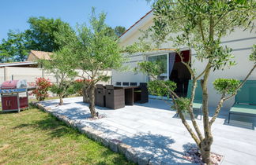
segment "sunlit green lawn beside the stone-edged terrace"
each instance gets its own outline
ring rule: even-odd
[[[0,111],[0,164],[132,164],[54,116]]]

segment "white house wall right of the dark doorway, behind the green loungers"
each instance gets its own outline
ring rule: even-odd
[[[241,31],[240,31],[241,32]],[[242,38],[242,36],[246,36],[246,38]],[[236,37],[236,38],[235,38]],[[250,69],[253,66],[253,62],[249,61],[249,54],[251,53],[251,47],[254,43],[256,43],[256,38],[253,38],[252,35],[249,35],[246,32],[241,32],[240,35],[238,33],[232,35],[232,42],[226,42],[224,45],[231,47],[233,49],[232,54],[235,56],[235,61],[237,64],[232,68],[226,68],[224,71],[218,70],[215,72],[211,72],[209,77],[209,105],[216,106],[216,102],[220,99],[220,94],[216,94],[216,90],[213,89],[213,81],[218,78],[227,78],[227,79],[244,79]],[[229,38],[228,38],[229,39]],[[194,56],[192,56],[194,59]],[[195,61],[194,67],[197,69],[197,72],[202,72],[203,66],[205,64],[201,64],[199,61]],[[249,79],[256,80],[256,72],[254,71]],[[224,104],[225,108],[230,108],[234,103],[234,97],[226,101]]]

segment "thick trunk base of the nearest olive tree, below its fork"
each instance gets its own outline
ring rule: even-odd
[[[204,163],[211,163],[211,145],[213,144],[213,136],[205,138],[200,143],[201,158]]]

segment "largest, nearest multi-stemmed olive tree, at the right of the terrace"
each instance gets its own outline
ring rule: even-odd
[[[153,26],[145,33],[145,37],[151,36],[153,41],[157,41],[155,46],[159,46],[165,41],[172,42],[171,47],[176,48],[182,63],[190,71],[193,86],[189,99],[175,94],[173,86],[170,86],[171,84],[158,81],[149,85],[156,94],[163,94],[163,91],[165,91],[163,89],[159,90],[159,86],[168,90],[168,94],[172,97],[173,108],[179,113],[183,125],[198,145],[198,148],[200,148],[202,160],[205,163],[211,163],[210,151],[213,144],[211,127],[220,112],[220,108],[224,101],[235,96],[236,92],[256,68],[256,48],[254,46],[254,52],[250,55],[250,61],[253,61],[252,68],[242,83],[235,79],[216,79],[214,82],[214,87],[221,94],[221,97],[212,119],[209,119],[209,94],[207,89],[209,76],[215,70],[224,70],[235,64],[231,54],[232,49],[227,46],[221,46],[220,39],[234,31],[235,28],[251,27],[253,30],[255,7],[255,1],[246,0],[158,0],[153,4],[156,17],[154,18]],[[131,47],[140,48],[139,46]],[[193,68],[193,64],[190,67],[190,61],[188,63],[183,61],[182,53],[180,53],[179,49],[184,47],[194,49],[197,53],[197,60],[206,63],[203,72],[197,73]],[[152,75],[152,77],[160,73],[159,68],[157,64],[152,64],[151,62],[141,62],[137,67],[138,70]],[[198,79],[201,79],[199,85],[202,88],[203,133],[199,129],[193,113],[194,94]],[[154,87],[154,84],[157,85]],[[194,129],[183,116],[184,111],[189,113]]]

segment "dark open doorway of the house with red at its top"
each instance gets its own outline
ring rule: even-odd
[[[186,97],[188,83],[189,83],[189,80],[191,79],[190,71],[181,62],[181,59],[178,53],[170,53],[170,57],[171,56],[175,56],[175,62],[172,64],[170,62],[169,64],[170,72],[171,72],[169,79],[177,84],[175,93],[178,94],[179,97]],[[188,63],[191,58],[190,50],[182,51],[182,57],[183,57],[183,61]]]

